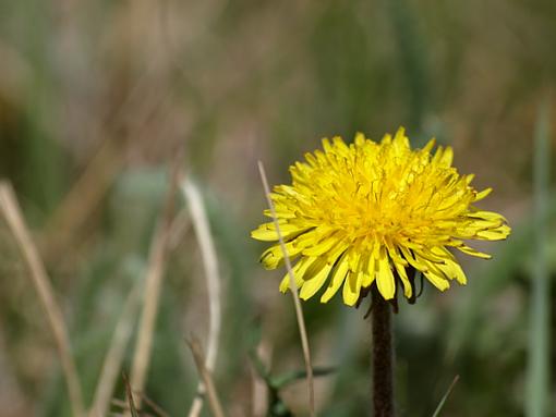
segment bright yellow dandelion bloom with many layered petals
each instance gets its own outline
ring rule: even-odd
[[[305,154],[306,162],[290,167],[292,185],[278,185],[270,197],[280,233],[303,299],[326,284],[321,302],[343,285],[343,302],[353,306],[370,286],[385,299],[398,284],[413,296],[412,271],[421,271],[440,291],[450,280],[466,284],[466,274],[450,252],[491,256],[467,245],[468,240],[503,240],[510,233],[506,219],[474,204],[492,188],[478,192],[473,175],[451,167],[452,149],[432,139],[411,149],[404,130],[375,143],[358,134],[351,145],[340,137],[323,139],[323,150]],[[265,214],[271,217],[269,210]],[[252,237],[277,242],[274,222]],[[279,243],[264,252],[266,269],[282,265]],[[280,291],[289,289],[286,274]]]

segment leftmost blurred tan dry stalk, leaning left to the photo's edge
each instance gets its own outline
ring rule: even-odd
[[[29,230],[17,204],[17,198],[15,197],[12,186],[5,182],[0,183],[0,208],[23,253],[31,271],[33,284],[45,308],[58,347],[58,354],[62,363],[73,415],[77,417],[83,416],[85,410],[83,393],[75,363],[72,357],[70,336],[63,321],[62,311],[56,302],[55,292],[50,285],[37,247],[31,237]]]

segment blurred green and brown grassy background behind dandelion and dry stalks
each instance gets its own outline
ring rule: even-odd
[[[177,149],[202,189],[220,263],[216,385],[229,416],[257,416],[250,353],[258,348],[274,376],[303,360],[291,299],[278,293],[282,272],[263,271],[264,245],[249,237],[265,208],[256,161],[271,184],[288,182],[288,165],[321,137],[378,139],[403,125],[414,146],[432,136],[451,144],[460,172],[495,189],[481,207],[504,213],[513,233],[480,247],[493,260],[461,257],[466,287],[427,285],[415,306],[401,304],[399,415],[432,416],[456,375],[443,415],[524,415],[531,346],[552,340],[553,365],[543,364],[556,364],[555,285],[534,291],[556,275],[555,22],[551,0],[0,0],[0,176],[39,245],[87,404],[145,274]],[[208,328],[186,224],[166,265],[146,387],[171,416],[186,414],[197,383],[184,338],[205,343]],[[49,327],[3,219],[0,254],[0,414],[70,415]],[[366,308],[340,299],[304,308],[315,365],[336,367],[316,381],[318,415],[370,415]],[[533,390],[547,392],[544,415],[556,416],[554,384]],[[123,395],[119,381],[113,396]],[[303,381],[279,395],[307,415]]]

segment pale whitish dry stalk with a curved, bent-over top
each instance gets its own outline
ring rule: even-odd
[[[189,180],[182,182],[182,193],[188,200],[191,218],[193,220],[193,229],[197,236],[201,256],[203,258],[203,267],[205,269],[206,285],[208,294],[208,343],[205,367],[213,372],[218,355],[218,340],[220,338],[221,324],[221,301],[220,301],[220,278],[218,275],[218,259],[216,257],[215,245],[210,236],[210,225],[206,216],[203,204],[203,197],[198,188]],[[197,395],[191,405],[190,417],[197,417],[203,408],[203,392],[205,388],[200,381],[197,387]]]

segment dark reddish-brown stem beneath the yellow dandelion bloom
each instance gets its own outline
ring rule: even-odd
[[[373,408],[374,417],[394,417],[394,353],[390,305],[378,293],[373,296]]]

